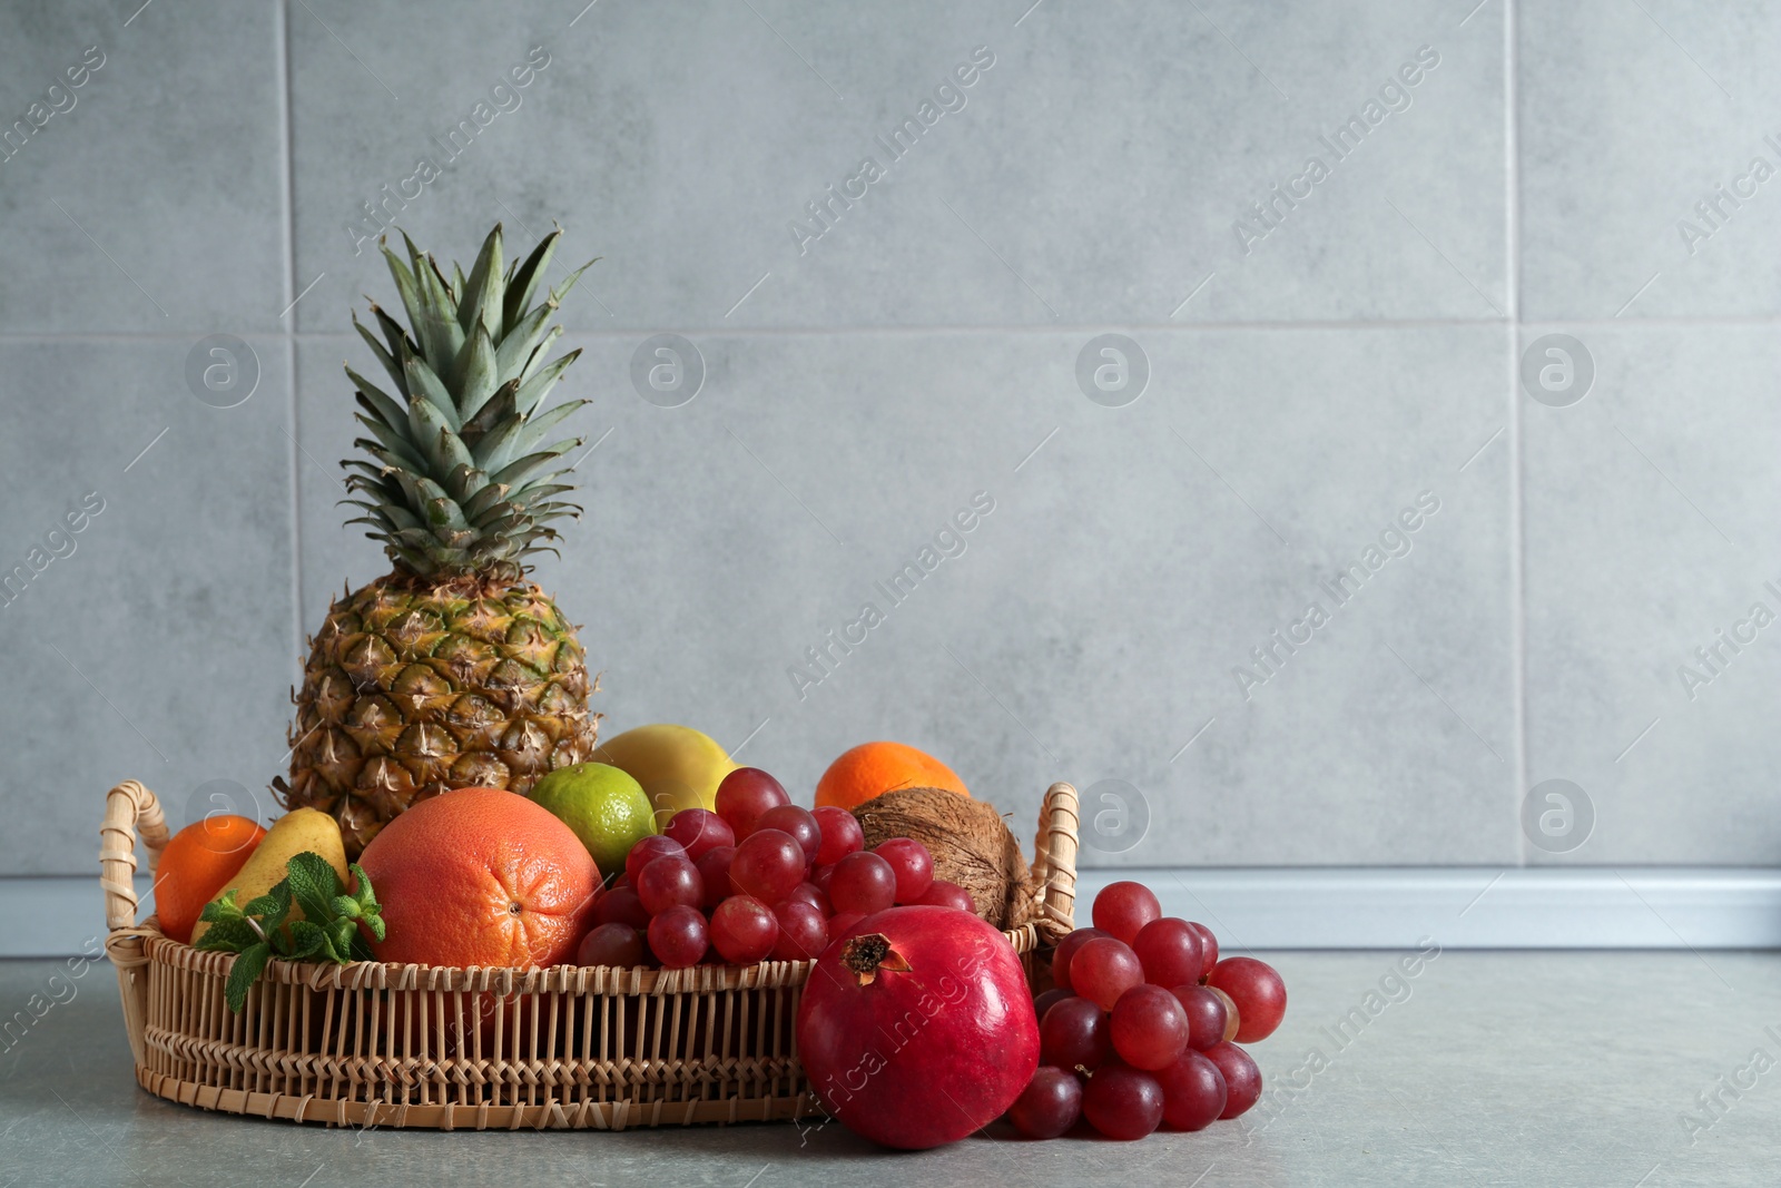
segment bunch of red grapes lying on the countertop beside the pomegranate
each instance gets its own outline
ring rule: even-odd
[[[1218,960],[1211,930],[1165,917],[1142,883],[1102,889],[1094,921],[1051,958],[1056,989],[1035,1003],[1038,1072],[1008,1110],[1015,1129],[1056,1138],[1086,1119],[1108,1138],[1143,1138],[1254,1106],[1261,1070],[1236,1042],[1281,1026],[1281,974],[1252,956]]]

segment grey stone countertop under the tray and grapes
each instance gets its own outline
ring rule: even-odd
[[[1781,955],[1444,951],[1414,978],[1402,956],[1268,955],[1289,1010],[1252,1047],[1268,1095],[1240,1122],[1134,1143],[996,1124],[921,1154],[835,1124],[442,1135],[207,1113],[137,1090],[109,967],[52,985],[61,962],[0,962],[0,1017],[50,1003],[0,1035],[0,1188],[1781,1183]]]

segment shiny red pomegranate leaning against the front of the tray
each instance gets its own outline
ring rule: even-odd
[[[798,1054],[848,1129],[885,1147],[939,1147],[1001,1117],[1033,1079],[1033,992],[1013,946],[976,915],[885,908],[817,958]]]

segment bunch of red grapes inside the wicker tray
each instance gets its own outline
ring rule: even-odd
[[[595,905],[581,965],[805,962],[898,903],[976,912],[964,887],[933,876],[919,841],[866,850],[851,812],[800,809],[759,768],[723,777],[716,805],[682,809],[630,848]]]

